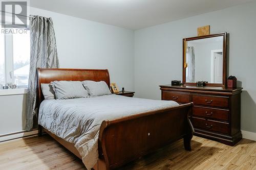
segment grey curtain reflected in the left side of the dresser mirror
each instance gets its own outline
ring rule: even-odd
[[[194,46],[187,47],[186,54],[186,82],[195,82],[195,52]]]

